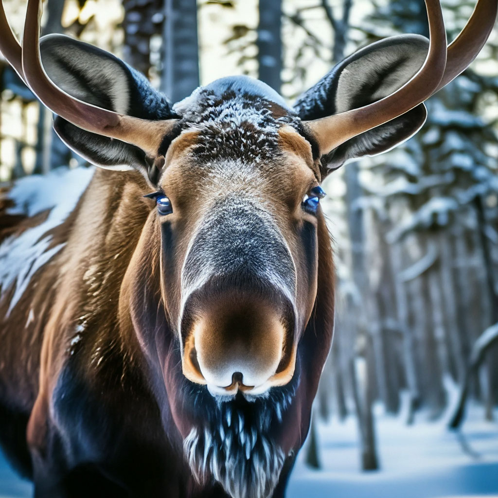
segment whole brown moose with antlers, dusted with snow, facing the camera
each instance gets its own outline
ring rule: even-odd
[[[0,3],[1,5],[1,3]],[[228,77],[171,106],[114,55],[0,7],[0,50],[96,167],[0,197],[0,442],[37,498],[283,497],[334,322],[321,183],[424,123],[485,44],[373,43],[293,107]]]

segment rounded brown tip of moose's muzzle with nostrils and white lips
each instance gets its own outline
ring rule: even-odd
[[[294,319],[285,300],[229,292],[193,301],[183,333],[187,378],[221,396],[257,395],[290,380]]]

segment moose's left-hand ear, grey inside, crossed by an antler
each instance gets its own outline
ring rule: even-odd
[[[109,52],[60,34],[43,36],[40,52],[48,77],[72,97],[135,118],[177,117],[142,74]],[[138,169],[150,176],[145,153],[135,145],[85,131],[60,116],[54,129],[68,147],[96,166]]]

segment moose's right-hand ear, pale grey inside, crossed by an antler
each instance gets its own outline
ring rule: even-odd
[[[303,121],[358,109],[395,92],[420,69],[429,40],[420,35],[392,36],[373,43],[343,60],[295,103]],[[350,138],[321,157],[323,174],[348,159],[391,149],[416,133],[427,117],[423,104]]]

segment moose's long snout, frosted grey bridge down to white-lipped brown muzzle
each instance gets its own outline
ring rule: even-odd
[[[213,395],[261,394],[294,373],[295,266],[270,214],[228,194],[182,268],[184,375]]]

